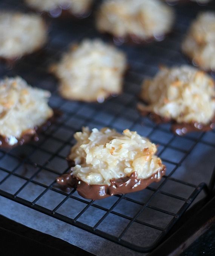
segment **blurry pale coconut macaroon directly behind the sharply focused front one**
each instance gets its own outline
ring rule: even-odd
[[[126,67],[126,57],[117,48],[86,39],[73,45],[50,70],[60,80],[64,98],[103,102],[109,95],[121,93]]]

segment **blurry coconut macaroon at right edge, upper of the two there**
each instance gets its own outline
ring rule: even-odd
[[[202,12],[191,24],[182,51],[201,69],[215,70],[215,12]]]

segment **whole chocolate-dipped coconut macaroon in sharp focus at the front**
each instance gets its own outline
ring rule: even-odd
[[[74,137],[77,143],[68,156],[74,167],[57,182],[77,187],[83,197],[96,200],[138,191],[160,181],[165,173],[155,144],[137,132],[85,127]]]

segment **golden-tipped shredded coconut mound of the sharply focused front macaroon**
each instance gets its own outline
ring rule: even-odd
[[[74,160],[72,173],[90,185],[107,184],[115,178],[137,172],[138,178],[149,178],[164,169],[155,153],[157,147],[137,132],[126,129],[122,134],[109,128],[98,130],[88,127],[74,135],[69,160]]]

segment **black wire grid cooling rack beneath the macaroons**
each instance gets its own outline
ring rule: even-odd
[[[14,6],[13,1],[2,1],[0,7],[27,10],[21,3]],[[21,59],[14,67],[1,64],[0,75],[19,75],[33,86],[50,90],[50,105],[63,115],[40,134],[38,142],[11,150],[0,149],[0,195],[133,250],[147,252],[155,248],[200,191],[207,190],[204,178],[201,179],[204,183],[199,184],[186,179],[186,175],[178,178],[175,174],[197,147],[202,152],[210,147],[210,155],[214,155],[215,131],[177,137],[170,132],[169,124],[156,125],[138,114],[137,94],[143,78],[153,76],[159,64],[187,64],[180,53],[184,33],[198,11],[212,8],[215,9],[212,4],[176,6],[175,30],[163,42],[121,45],[131,67],[126,74],[124,92],[103,104],[62,99],[57,93],[57,81],[47,70],[69,43],[86,37],[110,39],[95,30],[93,16],[79,21],[48,19],[50,40],[46,48]],[[167,166],[166,175],[161,182],[143,191],[97,201],[80,197],[75,189],[61,191],[55,178],[69,170],[65,157],[75,143],[74,133],[82,126],[109,126],[118,131],[128,128],[149,137],[159,144],[158,155]],[[209,167],[214,164],[210,155]],[[197,161],[198,156],[195,157]],[[193,175],[195,161],[189,161],[186,170]]]

